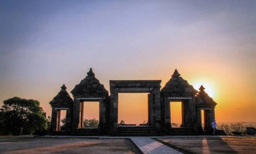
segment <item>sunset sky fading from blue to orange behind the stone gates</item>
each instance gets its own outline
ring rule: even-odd
[[[177,68],[205,86],[217,121],[256,121],[256,1],[0,1],[0,105],[32,98],[50,114],[62,84],[70,92],[90,67],[108,91],[110,79],[163,87]],[[146,95],[119,98],[130,113],[136,100]]]

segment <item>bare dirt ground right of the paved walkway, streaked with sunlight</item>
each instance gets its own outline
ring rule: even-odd
[[[256,137],[157,139],[194,154],[255,154]]]

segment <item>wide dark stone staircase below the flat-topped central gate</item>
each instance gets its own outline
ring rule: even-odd
[[[153,126],[118,126],[113,136],[161,136]]]

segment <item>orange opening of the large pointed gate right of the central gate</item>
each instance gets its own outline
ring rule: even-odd
[[[180,127],[182,124],[182,102],[170,101],[171,127]]]

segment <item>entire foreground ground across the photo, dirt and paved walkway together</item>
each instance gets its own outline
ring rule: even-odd
[[[48,138],[47,138],[48,137]],[[160,142],[155,141],[161,140]],[[132,143],[134,142],[135,145]],[[165,143],[164,143],[165,142]],[[164,143],[165,145],[163,145]],[[168,146],[166,146],[168,144]],[[175,146],[173,146],[175,145]],[[171,147],[171,148],[170,148]],[[177,148],[178,147],[178,148]],[[256,136],[0,136],[0,153],[181,154],[256,152]],[[140,151],[141,150],[141,151]]]

